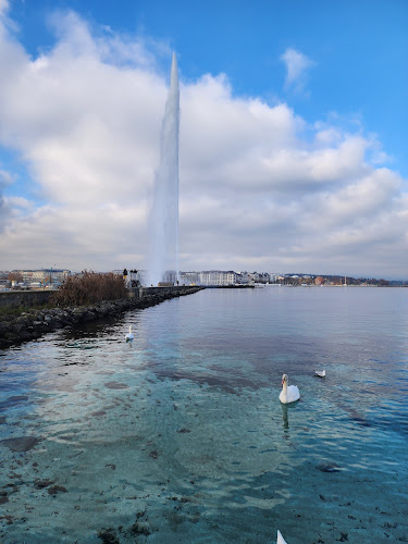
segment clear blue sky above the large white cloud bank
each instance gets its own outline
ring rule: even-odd
[[[309,122],[332,111],[356,118],[379,135],[394,168],[408,175],[405,0],[16,0],[11,8],[17,36],[33,55],[55,41],[47,25],[50,13],[72,9],[97,32],[106,25],[169,45],[187,81],[225,73],[235,94],[283,98]],[[287,47],[314,63],[302,92],[284,86],[280,58]],[[169,55],[161,61],[168,70]]]

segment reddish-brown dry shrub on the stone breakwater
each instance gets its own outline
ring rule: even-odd
[[[82,275],[69,277],[53,294],[52,302],[59,306],[85,306],[125,297],[126,288],[120,274],[85,271]]]

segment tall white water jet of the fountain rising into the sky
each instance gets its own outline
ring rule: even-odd
[[[169,97],[161,127],[160,163],[154,175],[149,217],[147,285],[164,280],[174,270],[178,280],[178,126],[177,61],[173,53]]]

